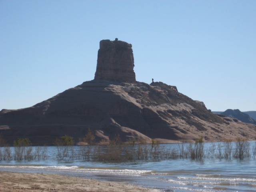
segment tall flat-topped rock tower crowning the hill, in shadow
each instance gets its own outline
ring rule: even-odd
[[[132,45],[123,41],[101,40],[94,80],[136,82]]]

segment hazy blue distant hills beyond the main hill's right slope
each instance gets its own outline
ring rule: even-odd
[[[224,116],[227,116],[227,117],[230,117],[230,118],[236,118],[244,123],[252,123],[252,124],[255,124],[256,125],[256,120],[254,120],[254,118],[252,118],[248,112],[241,112],[239,109],[235,109],[235,110],[232,110],[232,109],[228,109],[224,112],[213,112],[215,114],[222,114]],[[250,114],[256,114],[256,112],[252,111]]]

